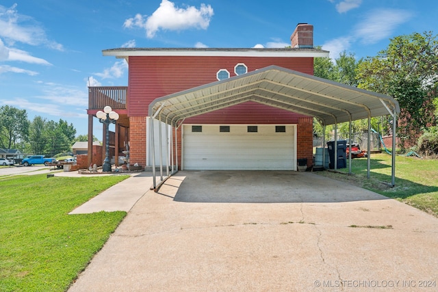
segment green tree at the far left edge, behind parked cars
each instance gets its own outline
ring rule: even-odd
[[[18,144],[23,144],[29,133],[26,110],[3,105],[0,107],[0,116],[0,148],[17,148]]]

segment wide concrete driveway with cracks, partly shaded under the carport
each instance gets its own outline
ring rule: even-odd
[[[437,248],[437,218],[330,178],[187,171],[70,291],[437,291]]]

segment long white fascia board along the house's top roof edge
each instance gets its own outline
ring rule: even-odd
[[[190,57],[329,57],[328,51],[103,51],[104,56],[190,56]]]

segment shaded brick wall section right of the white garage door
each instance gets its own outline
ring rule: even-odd
[[[307,158],[310,166],[313,159],[313,119],[298,118],[296,128],[296,158]]]

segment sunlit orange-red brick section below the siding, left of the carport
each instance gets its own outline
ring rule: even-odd
[[[146,166],[146,117],[129,117],[129,163]]]

